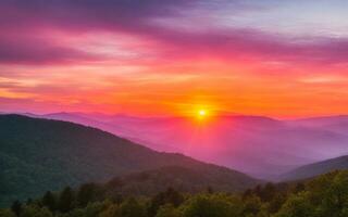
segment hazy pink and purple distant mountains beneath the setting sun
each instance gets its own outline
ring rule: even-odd
[[[203,122],[194,117],[84,113],[42,117],[94,126],[158,151],[184,153],[264,179],[348,154],[348,124],[343,124],[348,120],[346,116],[324,118],[330,125],[326,120],[320,125],[320,118],[287,122],[243,115],[208,117]]]

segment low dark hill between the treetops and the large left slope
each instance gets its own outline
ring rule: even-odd
[[[236,179],[236,176],[227,168],[214,167],[214,165],[197,166],[195,168],[165,166],[114,178],[105,187],[109,192],[123,195],[152,195],[167,188],[191,193],[208,188],[214,191],[236,192],[244,189],[245,186],[254,183],[253,181],[246,182],[245,179]]]

